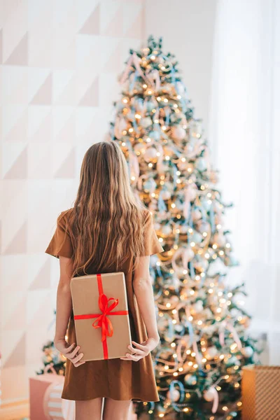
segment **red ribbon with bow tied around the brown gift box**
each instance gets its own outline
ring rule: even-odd
[[[92,327],[94,328],[102,328],[102,345],[103,345],[103,354],[104,359],[108,359],[108,346],[107,346],[107,338],[112,337],[113,335],[113,325],[111,320],[108,318],[110,315],[128,315],[128,311],[113,311],[114,308],[118,305],[118,299],[114,297],[107,297],[105,293],[103,293],[103,286],[102,286],[102,275],[97,274],[97,284],[98,284],[98,291],[99,291],[99,309],[102,311],[101,314],[85,314],[85,315],[75,315],[74,319],[91,319],[97,318],[94,323],[92,323]],[[109,302],[113,300],[111,304]]]

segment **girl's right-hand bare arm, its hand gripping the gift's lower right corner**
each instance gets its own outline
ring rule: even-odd
[[[123,360],[139,360],[150,353],[160,342],[158,334],[157,319],[155,316],[155,301],[153,298],[153,286],[151,283],[150,272],[150,256],[145,255],[138,257],[137,267],[134,270],[133,288],[134,294],[137,298],[137,304],[140,309],[140,314],[146,326],[148,339],[144,343],[132,342],[136,349],[128,346],[128,349],[133,354],[126,353]]]

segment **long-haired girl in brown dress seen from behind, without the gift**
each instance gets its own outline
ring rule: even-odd
[[[85,153],[73,208],[62,211],[45,253],[59,258],[55,346],[66,357],[62,398],[76,401],[76,420],[128,418],[132,400],[158,401],[151,351],[158,346],[149,255],[163,250],[153,217],[134,196],[127,162],[114,141]],[[72,276],[125,273],[133,346],[118,359],[83,362],[76,345]],[[68,325],[68,342],[66,329]]]

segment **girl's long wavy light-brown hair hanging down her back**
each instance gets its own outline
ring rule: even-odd
[[[90,146],[68,218],[73,275],[118,271],[127,260],[128,269],[134,269],[134,257],[144,255],[147,212],[132,191],[127,162],[118,144],[101,141]]]

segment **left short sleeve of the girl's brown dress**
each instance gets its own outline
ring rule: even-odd
[[[48,253],[56,258],[59,258],[59,255],[71,258],[73,255],[71,237],[69,233],[66,232],[65,212],[59,214],[57,218],[57,228],[50,240],[50,244],[48,244],[48,247],[45,250],[45,253]]]

